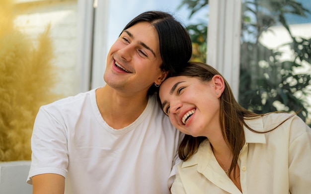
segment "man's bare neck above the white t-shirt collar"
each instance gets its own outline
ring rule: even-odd
[[[133,123],[145,110],[147,94],[125,95],[108,85],[96,90],[96,102],[104,121],[113,129]]]

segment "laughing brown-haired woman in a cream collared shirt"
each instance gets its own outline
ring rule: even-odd
[[[186,134],[172,194],[311,192],[311,129],[295,114],[245,110],[223,76],[202,63],[166,79],[159,98]]]

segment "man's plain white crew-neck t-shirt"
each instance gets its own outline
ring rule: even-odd
[[[65,177],[66,194],[170,194],[179,139],[156,96],[134,123],[113,129],[90,90],[40,108],[27,183],[54,173]]]

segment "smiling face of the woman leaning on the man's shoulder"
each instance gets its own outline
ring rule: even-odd
[[[215,75],[203,82],[196,77],[176,76],[160,86],[159,97],[163,112],[175,128],[192,136],[208,136],[219,128],[219,110],[222,90]]]

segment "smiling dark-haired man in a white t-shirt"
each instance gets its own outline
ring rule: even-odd
[[[180,133],[154,93],[191,50],[172,15],[135,17],[108,53],[104,87],[40,108],[27,179],[33,193],[169,194]]]

